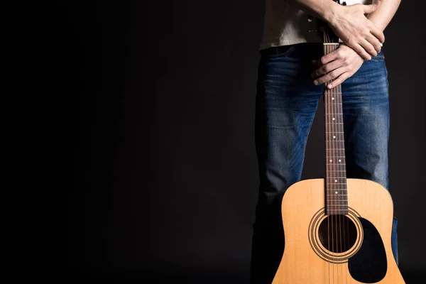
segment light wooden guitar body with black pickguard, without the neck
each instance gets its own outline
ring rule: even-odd
[[[388,190],[370,180],[347,179],[347,196],[349,213],[334,215],[333,221],[324,212],[324,179],[288,188],[282,202],[285,249],[273,284],[405,283],[391,249],[393,202]],[[339,222],[346,222],[352,236],[346,249],[333,252],[321,234]],[[331,235],[338,239],[340,233]]]

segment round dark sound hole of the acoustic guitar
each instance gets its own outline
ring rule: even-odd
[[[329,215],[322,220],[318,229],[320,242],[333,253],[343,253],[351,249],[356,241],[354,222],[345,215]]]

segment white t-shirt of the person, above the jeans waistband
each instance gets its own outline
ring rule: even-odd
[[[340,3],[344,1],[347,5],[372,3],[372,0],[340,0]],[[322,43],[319,33],[309,32],[315,28],[315,19],[309,23],[307,13],[291,6],[287,1],[266,0],[260,49],[295,43]]]

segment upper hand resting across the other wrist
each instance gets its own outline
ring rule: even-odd
[[[335,6],[329,26],[334,33],[362,58],[370,60],[381,50],[385,35],[364,14],[376,11],[380,1],[375,4],[355,4]]]

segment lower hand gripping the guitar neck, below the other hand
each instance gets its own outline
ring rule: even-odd
[[[324,55],[320,60],[313,60],[312,64],[319,66],[312,72],[312,78],[317,78],[314,84],[324,84],[333,80],[327,85],[327,89],[332,89],[344,80],[351,77],[359,70],[364,59],[349,46],[341,44],[337,50]]]

